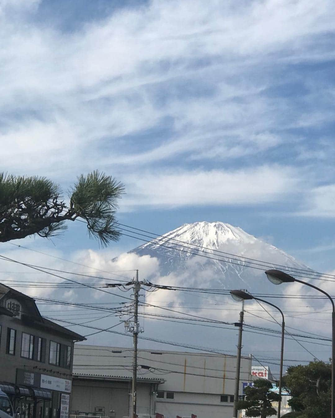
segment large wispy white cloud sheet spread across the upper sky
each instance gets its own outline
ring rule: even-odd
[[[297,52],[304,61],[334,17],[330,1],[157,0],[65,34],[33,23],[38,2],[8,3],[1,164],[62,182],[96,167],[135,178],[138,165],[236,159],[285,142],[274,131],[292,110],[283,98],[262,96],[274,82],[269,68]],[[29,20],[21,13],[16,21],[23,3]],[[292,115],[299,126],[322,114],[294,112],[301,110]],[[166,138],[143,146],[125,138],[166,120]]]

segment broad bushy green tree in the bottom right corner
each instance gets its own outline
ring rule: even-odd
[[[331,410],[331,364],[313,361],[291,366],[283,377],[283,387],[291,393],[289,405],[301,418],[328,417]]]

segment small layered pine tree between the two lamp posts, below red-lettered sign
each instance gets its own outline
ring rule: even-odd
[[[238,401],[237,408],[245,409],[248,417],[266,418],[275,415],[277,411],[271,402],[278,402],[280,396],[271,389],[272,383],[268,380],[255,380],[253,387],[245,388],[245,400]]]

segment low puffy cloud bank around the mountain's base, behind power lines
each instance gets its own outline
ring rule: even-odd
[[[32,249],[38,250],[39,242],[34,245],[26,244],[26,246],[31,247]],[[114,248],[112,250],[105,250],[103,252],[95,252],[92,250],[81,250],[77,252],[70,252],[68,254],[64,254],[64,252],[59,250],[47,250],[49,254],[54,255],[55,257],[60,258],[67,258],[75,263],[80,263],[89,268],[75,265],[71,263],[67,263],[65,261],[54,259],[52,257],[43,256],[41,254],[37,254],[31,252],[29,250],[25,250],[23,248],[10,250],[9,245],[5,245],[5,251],[2,253],[8,257],[14,258],[16,260],[20,260],[22,262],[38,264],[38,265],[47,265],[49,268],[55,268],[59,270],[66,270],[72,271],[77,273],[84,273],[93,276],[99,276],[100,278],[85,278],[84,276],[73,276],[66,273],[59,273],[64,277],[68,277],[80,283],[115,283],[116,281],[127,280],[128,278],[131,279],[134,275],[134,269],[139,269],[139,278],[140,280],[149,279],[152,283],[158,283],[161,285],[175,285],[175,286],[185,286],[185,287],[193,287],[193,288],[222,288],[223,281],[222,280],[229,280],[229,275],[232,272],[227,273],[227,277],[224,279],[222,278],[222,273],[218,274],[218,271],[215,268],[215,265],[211,265],[210,263],[205,263],[203,259],[196,259],[193,258],[186,262],[187,268],[181,268],[178,271],[174,271],[172,274],[169,275],[162,275],[161,271],[164,266],[160,265],[157,258],[149,257],[149,256],[142,256],[139,257],[136,254],[126,254],[122,253],[117,259],[115,259],[118,250]],[[260,254],[264,251],[264,244],[259,242],[258,245],[250,245],[245,248],[245,256],[250,257],[260,257]],[[265,248],[268,251],[268,248]],[[45,251],[45,250],[44,250]],[[278,260],[275,259],[278,263],[281,262],[280,257],[285,256],[284,254],[281,255],[281,252],[274,252],[274,254],[279,257]],[[267,253],[269,255],[269,253]],[[7,280],[26,280],[29,282],[46,282],[46,283],[57,283],[62,282],[63,280],[60,278],[52,277],[45,273],[36,272],[34,270],[30,270],[28,268],[24,268],[21,265],[15,265],[14,263],[7,263],[2,261],[1,262],[1,270],[7,271],[16,271],[17,273],[8,273],[6,275],[2,274],[1,281],[5,282]],[[102,270],[102,271],[101,271]],[[121,270],[121,271],[120,271]],[[131,271],[129,271],[131,270]],[[21,273],[18,273],[21,272]],[[106,273],[110,272],[110,273]],[[125,277],[119,277],[116,275],[121,275]],[[334,273],[334,272],[332,272]],[[58,273],[56,273],[58,274]],[[267,282],[265,277],[263,277],[263,272],[258,273],[257,271],[251,270],[246,271],[245,278],[248,280],[245,281],[245,285],[248,287],[249,291],[258,291],[257,286],[261,286],[262,293],[278,293],[279,295],[304,295],[304,296],[315,296],[317,295],[317,291],[308,288],[307,286],[300,285],[299,283],[292,283],[290,285],[281,285],[275,286],[271,285]],[[260,275],[262,277],[260,277]],[[109,279],[112,279],[111,281]],[[260,279],[260,280],[258,280]],[[258,283],[256,283],[258,281]],[[16,287],[13,281],[5,282],[12,287]],[[242,282],[241,282],[242,283]],[[314,283],[314,281],[312,282]],[[22,284],[22,283],[21,283]],[[36,283],[37,284],[37,283]],[[236,284],[237,285],[237,284]],[[326,291],[331,292],[333,287],[333,283],[330,282],[322,282],[322,288]],[[128,292],[122,293],[117,289],[108,289],[104,288],[111,293],[104,293],[101,291],[93,291],[87,288],[80,288],[80,289],[72,289],[72,290],[64,290],[64,289],[44,289],[44,288],[22,288],[17,287],[19,291],[23,291],[23,293],[27,293],[30,296],[36,297],[46,297],[52,299],[60,299],[64,301],[71,301],[71,302],[80,302],[80,303],[100,303],[105,306],[124,306],[124,303],[131,303],[131,295],[132,290],[130,289]],[[259,288],[258,288],[259,289]],[[124,290],[124,289],[123,289]],[[147,314],[160,314],[160,315],[174,315],[174,316],[184,316],[183,313],[191,314],[195,316],[200,316],[204,318],[210,318],[219,321],[227,321],[229,323],[236,322],[238,319],[238,313],[240,311],[240,303],[234,302],[229,295],[219,295],[219,294],[204,294],[204,293],[189,293],[189,292],[177,292],[177,291],[169,291],[169,290],[158,290],[152,293],[145,292],[144,290],[141,291],[141,295],[146,294],[145,302],[149,303],[154,306],[146,306],[145,312]],[[113,294],[119,294],[120,296],[115,296]],[[126,299],[124,299],[126,298]],[[129,299],[128,299],[129,298]],[[265,297],[266,298],[266,297]],[[143,301],[143,297],[141,296],[141,301]],[[288,332],[298,332],[296,330],[292,330],[289,327],[294,327],[298,330],[304,329],[305,331],[314,332],[316,334],[324,334],[327,335],[330,327],[328,327],[330,318],[330,302],[327,300],[309,300],[309,299],[291,299],[291,298],[279,298],[279,299],[271,299],[271,302],[275,303],[279,307],[283,309],[285,312],[286,318],[286,326]],[[121,302],[121,303],[120,303]],[[123,302],[123,303],[122,303]],[[115,303],[120,303],[116,305]],[[156,306],[156,307],[155,307]],[[157,307],[158,306],[158,307]],[[172,309],[173,311],[179,311],[180,313],[171,312],[165,309],[161,309],[159,307]],[[276,312],[275,309],[264,305],[264,307],[270,311],[271,315],[276,318],[279,322],[281,317]],[[73,322],[85,322],[92,321],[94,318],[100,318],[104,316],[104,312],[93,312],[93,311],[78,311],[78,307],[67,307],[67,306],[59,306],[59,305],[45,305],[39,304],[39,308],[43,315],[50,316],[52,318],[57,318],[64,321],[73,321]],[[140,322],[141,326],[143,318],[142,312],[144,308],[140,306]],[[264,319],[269,319],[273,321],[273,318],[263,311],[263,309],[255,302],[250,301],[245,306],[245,323],[246,324],[253,324],[258,326],[264,326],[271,329],[279,329],[278,324],[271,324]],[[73,312],[72,312],[73,311]],[[319,313],[319,311],[325,311]],[[78,313],[79,312],[79,313]],[[313,315],[310,315],[310,314]],[[307,315],[305,315],[307,314]],[[257,315],[257,316],[255,316]],[[187,317],[187,315],[185,315]],[[263,317],[261,319],[259,317]],[[126,319],[127,316],[122,317],[122,319]],[[189,317],[190,318],[190,317]],[[168,319],[168,318],[166,318]],[[107,328],[108,326],[112,326],[119,322],[120,318],[117,315],[110,316],[106,319],[99,319],[96,322],[90,322],[88,326],[97,326],[98,328]],[[171,319],[173,321],[173,319]],[[186,322],[187,319],[186,319]],[[67,322],[61,322],[64,326],[69,326]],[[144,329],[146,337],[153,337],[158,339],[165,339],[165,340],[172,340],[175,342],[184,342],[187,344],[197,344],[200,346],[207,346],[207,347],[217,347],[223,349],[227,352],[235,352],[235,329],[230,327],[230,331],[228,329],[218,329],[218,328],[203,328],[198,323],[198,326],[186,325],[186,324],[176,324],[175,322],[169,321],[160,321],[149,319],[147,317],[145,319]],[[225,326],[220,324],[207,324],[207,325],[214,325],[214,326]],[[228,326],[229,328],[229,326]],[[85,335],[90,334],[90,332],[95,332],[95,329],[85,328],[85,327],[71,327],[75,331]],[[123,326],[119,325],[116,328],[118,331],[123,331]],[[258,334],[248,334],[248,329],[245,329],[245,333],[243,336],[243,345],[244,350],[250,350],[254,354],[257,353],[259,350],[262,350],[264,344],[266,344],[267,349],[276,349],[276,340],[273,337],[268,335],[260,336]],[[266,334],[266,332],[265,332]],[[257,337],[257,339],[256,339]],[[300,339],[300,338],[299,338]],[[110,344],[113,346],[125,346],[128,340],[122,340],[119,336],[113,336],[113,343],[111,343],[111,334],[104,333],[98,334],[98,338],[93,336],[93,338],[89,339],[89,343],[95,344]],[[128,344],[130,344],[130,339]],[[143,342],[140,342],[141,347],[143,347]],[[327,344],[327,342],[325,342]],[[314,349],[320,348],[319,346],[312,346],[308,343],[303,343],[312,353],[314,353]],[[150,343],[149,347],[157,347],[155,343]],[[158,346],[161,347],[161,346]],[[157,348],[158,348],[157,347]],[[305,359],[303,354],[303,350],[301,346],[298,347],[298,344],[294,341],[290,341],[289,337],[286,339],[285,342],[286,350],[289,352],[292,349],[299,349],[302,353],[300,354],[301,359]],[[322,347],[327,350],[327,347]],[[330,347],[329,347],[330,351]],[[257,357],[257,354],[255,354]],[[322,355],[322,354],[321,354]],[[266,356],[269,356],[268,352]],[[328,357],[327,352],[323,358],[327,359]],[[271,356],[270,356],[271,357]],[[307,356],[309,358],[310,356]],[[290,358],[289,354],[286,354],[286,358]]]

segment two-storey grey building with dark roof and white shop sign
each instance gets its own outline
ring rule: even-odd
[[[0,390],[18,418],[67,418],[75,341],[41,316],[33,298],[0,283]]]

